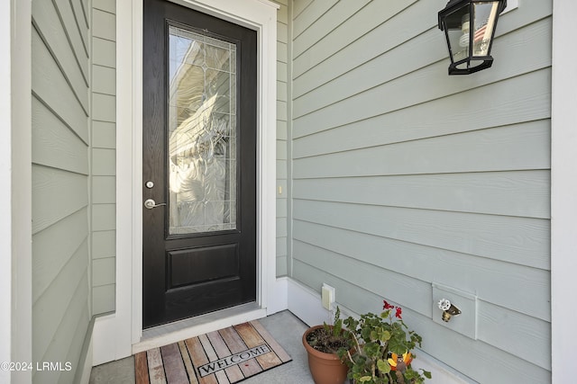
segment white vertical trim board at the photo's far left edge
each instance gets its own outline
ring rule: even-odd
[[[30,2],[0,4],[0,362],[32,362],[32,49]],[[0,382],[31,371],[0,369]]]

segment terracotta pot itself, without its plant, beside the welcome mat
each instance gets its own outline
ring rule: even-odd
[[[335,353],[316,351],[307,343],[307,335],[323,326],[312,326],[303,335],[303,345],[308,353],[308,368],[316,384],[343,384],[349,371]]]

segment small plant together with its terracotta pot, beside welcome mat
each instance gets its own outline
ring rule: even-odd
[[[316,384],[343,384],[348,367],[339,350],[347,351],[351,337],[343,329],[340,308],[336,308],[333,325],[324,323],[311,326],[303,334],[303,345],[308,354],[308,368]]]

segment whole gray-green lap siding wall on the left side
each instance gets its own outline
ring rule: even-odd
[[[76,374],[89,308],[88,25],[79,1],[32,2],[33,382]]]

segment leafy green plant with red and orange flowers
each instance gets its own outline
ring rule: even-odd
[[[349,367],[348,377],[355,384],[421,384],[431,373],[413,370],[411,362],[422,337],[405,325],[400,307],[383,304],[380,315],[344,320],[352,348],[342,348],[339,355]]]

